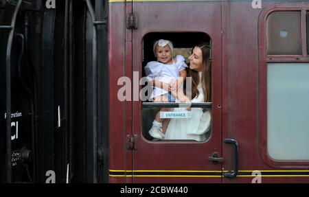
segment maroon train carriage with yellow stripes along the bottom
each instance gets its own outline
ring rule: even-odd
[[[109,1],[111,183],[309,181],[309,3],[258,3]],[[211,41],[206,141],[151,141],[143,102],[117,98],[122,76],[137,88],[159,38],[175,48]]]

